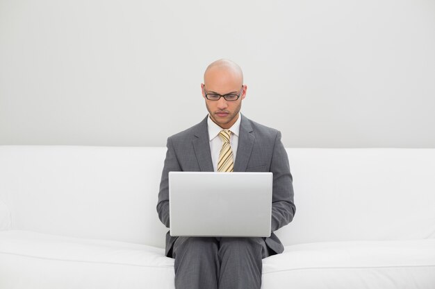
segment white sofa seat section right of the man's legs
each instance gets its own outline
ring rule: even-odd
[[[283,286],[433,289],[435,239],[290,245],[263,261],[263,288]]]

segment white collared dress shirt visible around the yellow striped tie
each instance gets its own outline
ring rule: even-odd
[[[238,146],[238,134],[240,132],[240,112],[238,113],[238,119],[236,123],[229,128],[231,130],[230,137],[230,145],[231,150],[233,150],[233,161],[236,161],[236,153]],[[208,115],[207,119],[208,126],[208,140],[210,141],[210,152],[211,152],[211,160],[213,161],[213,170],[217,172],[217,161],[219,161],[219,153],[222,148],[222,139],[219,137],[219,132],[223,130],[219,125],[217,125],[214,121],[211,120],[210,115]]]

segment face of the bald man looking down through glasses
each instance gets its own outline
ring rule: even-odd
[[[246,96],[246,85],[236,73],[229,69],[211,69],[204,76],[202,96],[206,100],[206,107],[211,119],[221,128],[231,128],[238,119],[238,112],[242,107],[242,100]],[[240,92],[241,91],[241,92]],[[206,94],[240,94],[238,100],[228,101],[221,97],[219,100],[208,100]]]

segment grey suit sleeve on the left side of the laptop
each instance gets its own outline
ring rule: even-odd
[[[163,222],[163,225],[169,228],[170,218],[169,218],[169,182],[168,182],[168,173],[171,171],[179,171],[181,170],[181,166],[177,159],[177,155],[174,150],[174,146],[172,145],[172,140],[170,138],[167,139],[167,151],[165,164],[163,166],[163,172],[160,182],[160,190],[158,192],[158,202],[157,202],[157,213],[158,218]]]

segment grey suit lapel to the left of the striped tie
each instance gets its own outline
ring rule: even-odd
[[[211,161],[210,143],[208,141],[207,117],[199,123],[197,130],[195,130],[192,144],[199,169],[202,172],[213,172],[213,161]]]

